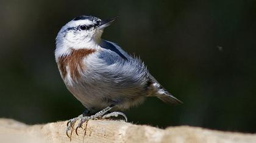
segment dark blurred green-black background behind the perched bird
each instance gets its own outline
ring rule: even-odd
[[[0,1],[0,116],[27,124],[74,118],[55,36],[79,15],[119,16],[104,39],[140,56],[184,102],[157,98],[126,111],[130,122],[256,131],[256,1]]]

